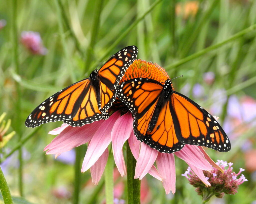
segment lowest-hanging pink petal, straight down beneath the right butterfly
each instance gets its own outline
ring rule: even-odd
[[[156,158],[156,165],[163,178],[165,193],[169,194],[172,190],[172,193],[174,194],[176,182],[174,155],[159,152]]]

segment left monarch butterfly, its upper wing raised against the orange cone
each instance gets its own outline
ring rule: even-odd
[[[138,49],[128,46],[114,54],[90,77],[76,82],[42,102],[28,116],[25,125],[36,127],[43,123],[64,121],[82,126],[109,117],[108,108],[116,98],[115,88],[125,70],[136,59]]]

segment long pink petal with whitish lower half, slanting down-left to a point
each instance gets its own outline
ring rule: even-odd
[[[99,129],[95,132],[83,160],[82,172],[88,170],[108,147],[111,142],[111,130],[118,118],[120,118],[120,112],[116,111],[109,119],[103,121]]]

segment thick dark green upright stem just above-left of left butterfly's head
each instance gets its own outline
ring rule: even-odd
[[[92,62],[92,56],[93,56],[93,49],[94,45],[96,43],[96,39],[99,33],[99,26],[100,26],[100,14],[102,11],[104,0],[97,0],[95,2],[95,14],[94,14],[94,20],[92,24],[92,31],[91,31],[91,41],[90,45],[87,50],[87,57],[86,57],[86,67],[84,69],[84,74],[89,70],[91,62]]]

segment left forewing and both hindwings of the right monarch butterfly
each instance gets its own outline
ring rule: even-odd
[[[176,137],[170,102],[161,101],[162,91],[163,85],[155,80],[135,78],[120,85],[117,97],[134,115],[133,128],[137,139],[160,152],[172,153],[184,144]]]

